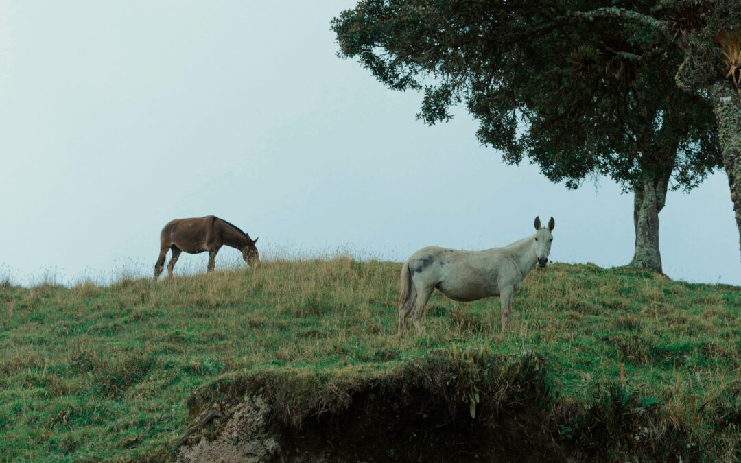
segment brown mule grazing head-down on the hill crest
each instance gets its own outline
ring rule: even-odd
[[[190,254],[208,252],[207,271],[210,272],[213,270],[216,253],[225,244],[242,251],[242,257],[250,266],[253,263],[259,264],[260,256],[255,247],[257,240],[256,238],[253,241],[235,225],[215,216],[175,219],[165,225],[159,236],[159,258],[154,265],[154,279],[162,274],[167,250],[173,250],[170,263],[167,264],[167,276],[173,276],[173,267],[182,251]]]

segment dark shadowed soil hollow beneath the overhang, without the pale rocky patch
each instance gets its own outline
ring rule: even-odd
[[[548,436],[532,433],[527,419],[537,410],[512,410],[472,419],[468,403],[451,413],[428,391],[397,396],[357,393],[342,413],[283,427],[282,461],[290,462],[562,462],[566,457]]]

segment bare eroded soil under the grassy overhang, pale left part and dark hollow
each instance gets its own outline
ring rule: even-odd
[[[480,407],[479,407],[480,408]],[[215,436],[190,438],[179,462],[563,462],[536,407],[472,419],[428,390],[354,393],[340,413],[309,416],[301,427],[270,422],[259,397],[228,410]],[[218,427],[218,426],[216,426]]]

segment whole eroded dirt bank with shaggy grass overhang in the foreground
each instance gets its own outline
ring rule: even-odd
[[[642,406],[614,387],[589,407],[559,404],[546,370],[534,353],[482,350],[441,351],[380,372],[276,369],[230,377],[191,398],[193,421],[202,425],[182,441],[176,459],[697,459],[682,447],[685,430],[662,421],[655,404]]]

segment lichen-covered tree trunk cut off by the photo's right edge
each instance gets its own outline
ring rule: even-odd
[[[728,187],[731,187],[731,201],[734,204],[741,251],[741,99],[728,81],[714,83],[711,95],[718,124],[723,166],[728,176]]]

